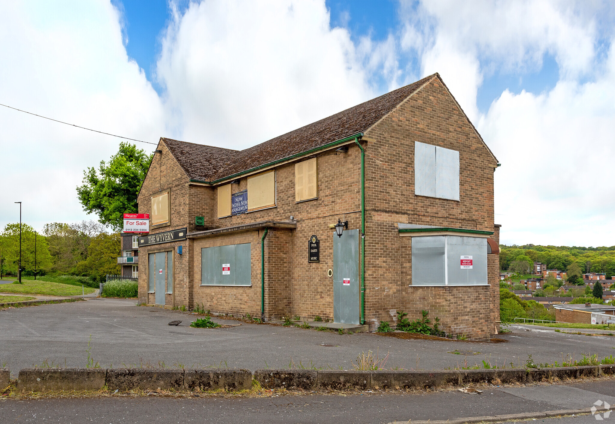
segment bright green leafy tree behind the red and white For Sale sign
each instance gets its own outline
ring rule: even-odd
[[[100,168],[87,168],[77,187],[79,202],[87,213],[96,213],[101,224],[119,231],[124,213],[137,213],[137,195],[151,163],[152,155],[130,143],[120,143],[119,151]]]

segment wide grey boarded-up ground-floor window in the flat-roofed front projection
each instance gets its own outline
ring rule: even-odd
[[[250,243],[200,249],[202,286],[251,286]]]

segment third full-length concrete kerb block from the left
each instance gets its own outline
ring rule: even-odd
[[[186,390],[248,390],[252,372],[247,369],[189,369],[184,374]]]

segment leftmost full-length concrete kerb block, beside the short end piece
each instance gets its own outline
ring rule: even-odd
[[[106,369],[24,368],[17,377],[17,390],[98,390],[105,385]]]

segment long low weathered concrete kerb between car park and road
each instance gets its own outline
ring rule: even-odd
[[[263,388],[287,390],[367,390],[463,386],[481,383],[534,383],[615,375],[615,365],[544,369],[480,369],[450,371],[318,371],[259,369],[254,379]],[[0,369],[0,389],[9,386],[10,371]],[[17,389],[42,390],[249,390],[247,369],[79,369],[25,368]]]

